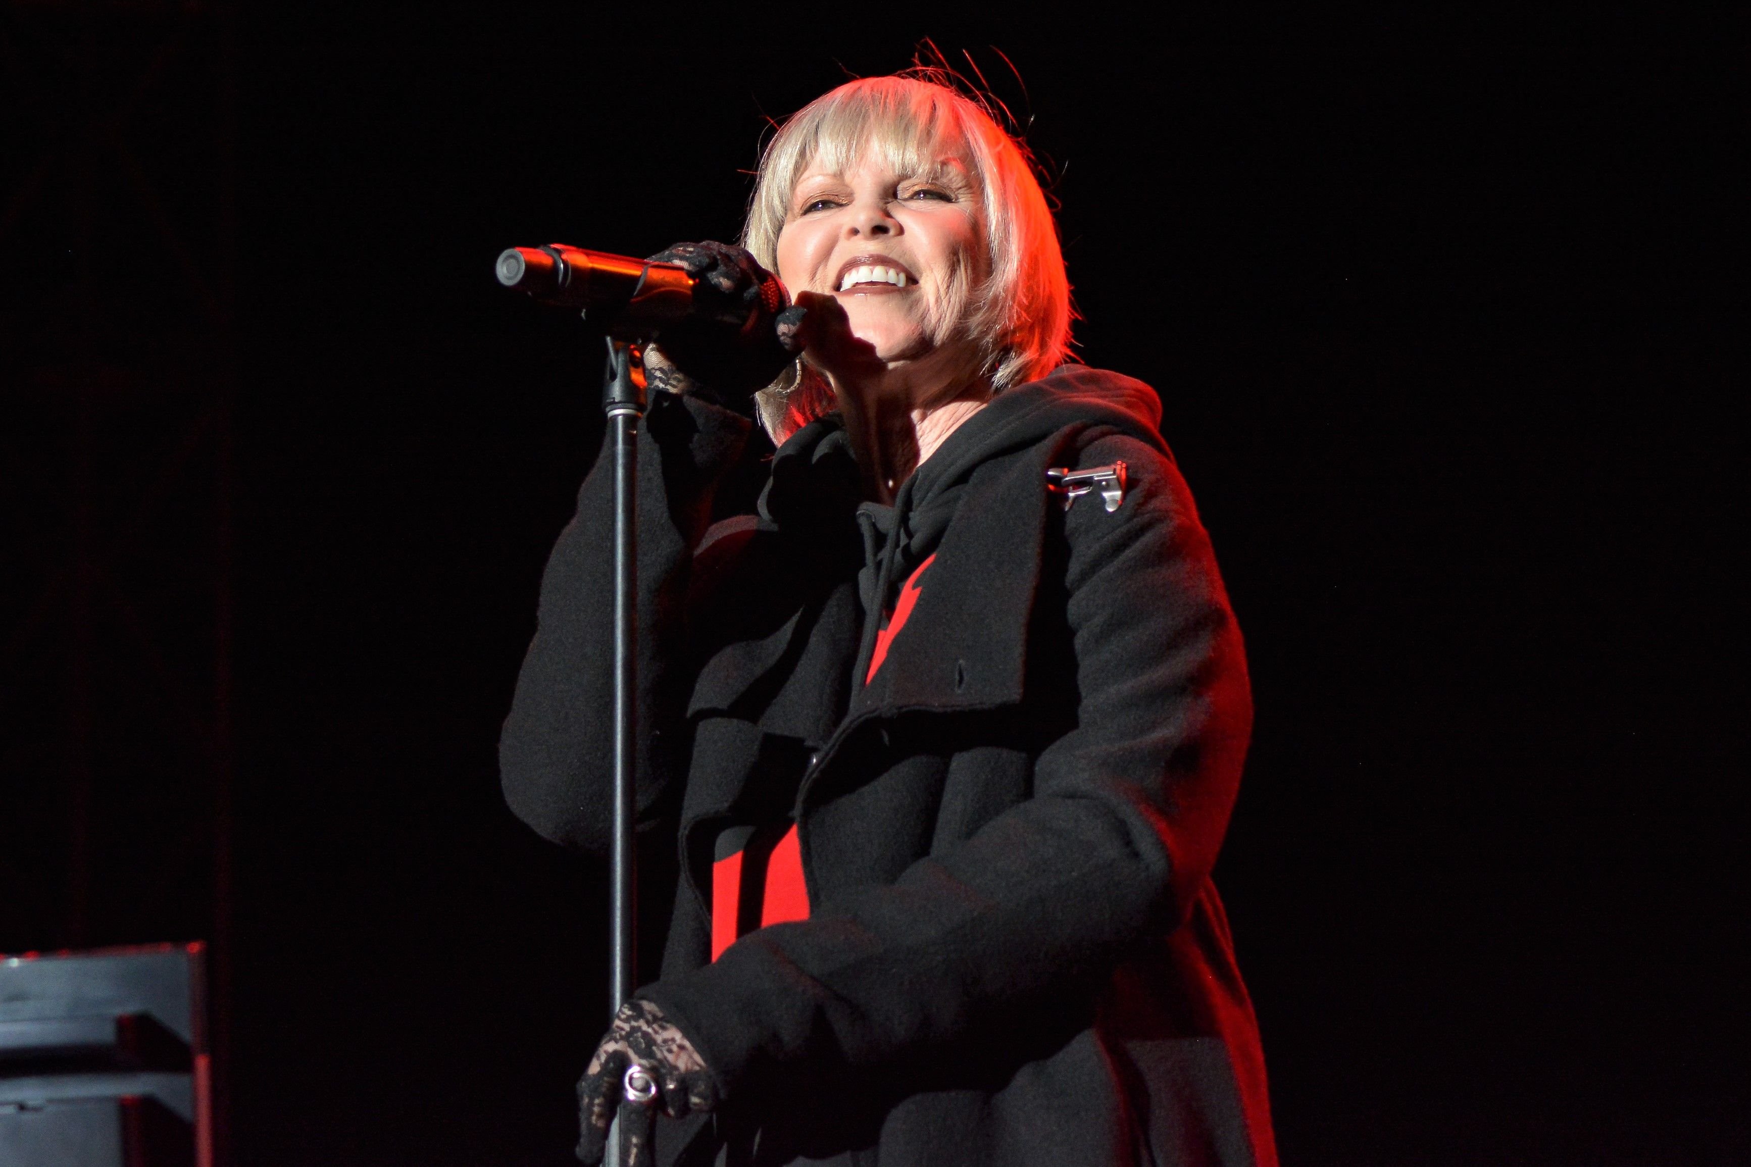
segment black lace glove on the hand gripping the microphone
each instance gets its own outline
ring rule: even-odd
[[[783,285],[744,248],[676,243],[651,255],[651,262],[686,268],[699,280],[693,303],[702,310],[657,338],[662,357],[674,366],[672,373],[657,376],[657,388],[704,390],[721,404],[741,408],[802,352],[805,310],[786,306]]]

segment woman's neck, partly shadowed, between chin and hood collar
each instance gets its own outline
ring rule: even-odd
[[[988,381],[958,390],[918,392],[905,383],[840,383],[839,408],[863,478],[863,497],[893,502],[900,483],[933,455],[949,434],[991,401]]]

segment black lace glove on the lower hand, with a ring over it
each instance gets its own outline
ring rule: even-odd
[[[644,1106],[622,1106],[627,1071],[634,1066],[644,1069],[657,1097]],[[627,1001],[578,1081],[578,1160],[587,1165],[602,1162],[608,1127],[620,1111],[627,1148],[623,1167],[653,1167],[657,1108],[671,1118],[686,1118],[716,1104],[718,1083],[693,1043],[650,1001]]]

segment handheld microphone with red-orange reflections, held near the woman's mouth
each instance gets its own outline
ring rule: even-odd
[[[770,290],[762,287],[762,303],[749,308],[709,292],[695,296],[699,278],[681,264],[588,252],[566,243],[506,248],[496,271],[504,287],[545,304],[580,308],[587,318],[604,320],[620,339],[650,339],[683,320],[751,331],[762,311],[770,317],[786,306],[777,280],[770,282]]]

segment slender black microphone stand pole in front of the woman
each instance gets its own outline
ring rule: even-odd
[[[608,413],[608,441],[615,453],[615,740],[611,772],[615,787],[613,835],[609,842],[609,933],[608,997],[609,1015],[632,999],[637,989],[637,854],[634,817],[637,814],[637,488],[639,488],[639,418],[644,416],[644,388],[632,380],[632,345],[608,338],[608,366],[602,373],[602,409]],[[648,1104],[648,1102],[646,1102]],[[608,1130],[602,1167],[623,1167],[622,1123],[616,1108]]]

